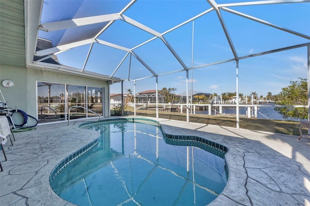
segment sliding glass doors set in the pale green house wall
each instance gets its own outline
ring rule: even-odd
[[[103,116],[103,88],[37,82],[39,123]]]

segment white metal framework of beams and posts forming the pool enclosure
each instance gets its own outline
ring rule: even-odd
[[[193,69],[197,69],[197,68],[202,68],[202,67],[208,67],[211,65],[216,65],[216,64],[220,64],[220,63],[225,63],[225,62],[229,62],[229,61],[236,61],[236,93],[237,93],[237,129],[239,129],[239,79],[238,79],[238,75],[239,75],[239,60],[240,59],[246,59],[246,58],[251,58],[251,57],[256,57],[256,56],[260,56],[260,55],[265,55],[265,54],[270,54],[270,53],[275,53],[275,52],[279,52],[279,51],[284,51],[284,50],[288,50],[288,49],[294,49],[294,48],[298,48],[298,47],[304,47],[307,46],[307,52],[308,52],[308,120],[310,120],[310,43],[306,43],[306,44],[299,44],[299,45],[293,45],[293,46],[288,46],[288,47],[284,47],[284,48],[279,48],[279,49],[274,49],[274,50],[270,50],[270,51],[264,51],[261,53],[256,53],[256,54],[251,54],[251,55],[247,55],[247,56],[243,56],[243,57],[238,57],[237,52],[235,50],[235,47],[233,45],[233,41],[230,37],[229,31],[225,26],[224,23],[224,19],[221,15],[221,12],[229,12],[233,15],[239,15],[243,18],[247,18],[251,21],[255,21],[261,24],[264,24],[266,26],[275,28],[275,29],[279,29],[282,30],[284,32],[288,32],[290,34],[305,38],[307,40],[310,40],[310,36],[303,34],[303,33],[299,33],[296,32],[294,30],[291,29],[286,29],[280,26],[277,26],[271,22],[265,21],[263,19],[260,18],[256,18],[254,16],[251,15],[247,15],[241,12],[237,12],[233,9],[227,8],[227,7],[234,7],[234,6],[248,6],[248,5],[263,5],[263,4],[280,4],[280,3],[304,3],[304,2],[310,2],[310,0],[263,0],[263,1],[251,1],[251,2],[239,2],[239,3],[225,3],[225,4],[217,4],[215,0],[206,0],[212,8],[200,13],[199,15],[196,15],[186,21],[184,21],[183,23],[169,29],[166,30],[163,33],[159,33],[154,29],[151,29],[139,22],[137,22],[134,19],[129,18],[128,16],[124,15],[124,12],[126,10],[128,10],[137,0],[131,0],[125,7],[124,9],[117,14],[109,14],[109,15],[98,15],[98,16],[90,16],[90,17],[83,17],[83,18],[75,18],[75,19],[69,19],[69,20],[63,20],[63,21],[57,21],[57,22],[48,22],[48,23],[43,23],[40,24],[40,16],[41,16],[41,12],[42,12],[42,8],[43,8],[43,0],[38,0],[36,1],[35,4],[33,4],[33,2],[31,0],[27,0],[25,1],[25,18],[27,17],[27,21],[25,24],[25,35],[26,35],[26,64],[29,67],[37,67],[37,66],[41,66],[41,67],[45,67],[48,68],[50,70],[53,69],[57,69],[60,72],[68,72],[68,73],[72,73],[72,74],[84,74],[85,76],[92,76],[95,77],[97,75],[98,78],[109,78],[109,79],[116,79],[116,81],[123,81],[120,80],[118,78],[114,78],[112,77],[116,71],[120,68],[121,64],[124,62],[124,59],[126,59],[126,57],[128,56],[128,54],[130,53],[131,55],[133,55],[134,57],[136,57],[140,63],[146,67],[146,69],[148,69],[152,74],[150,76],[147,77],[143,77],[140,79],[134,79],[134,90],[136,90],[136,81],[137,80],[141,80],[141,79],[146,79],[146,78],[150,78],[150,77],[156,77],[156,118],[158,118],[158,76],[159,75],[165,75],[165,74],[172,74],[172,73],[176,73],[176,72],[181,72],[181,71],[186,71],[186,121],[189,121],[189,101],[188,101],[188,71],[189,70],[193,70]],[[215,10],[215,12],[217,13],[217,17],[219,19],[219,22],[221,24],[221,27],[225,33],[226,39],[230,45],[230,49],[233,53],[233,59],[226,59],[226,60],[222,60],[222,61],[218,61],[218,62],[213,62],[213,63],[208,63],[208,64],[204,64],[204,65],[199,65],[196,67],[193,67],[193,63],[191,68],[187,68],[186,64],[183,62],[183,60],[179,57],[179,55],[177,54],[177,52],[172,48],[172,46],[169,44],[169,42],[164,38],[163,35],[177,29],[180,28],[181,26],[189,23],[190,21],[193,21],[194,19],[197,19],[199,17],[201,17],[202,15],[205,15],[211,11]],[[222,10],[222,11],[221,11]],[[116,20],[122,20],[130,25],[133,25],[145,32],[148,32],[152,35],[154,35],[153,38],[151,38],[150,40],[145,41],[142,44],[139,44],[137,46],[135,46],[134,48],[126,48],[124,46],[121,45],[117,45],[117,44],[112,44],[103,40],[99,40],[97,39],[106,29],[109,28],[110,25],[112,25]],[[34,22],[34,23],[33,23]],[[80,26],[86,26],[86,25],[91,25],[91,24],[97,24],[97,23],[103,23],[103,22],[107,22],[107,24],[104,26],[104,28],[102,28],[100,30],[100,32],[97,33],[97,35],[95,35],[95,37],[92,37],[90,39],[86,39],[86,40],[82,40],[82,41],[78,41],[78,42],[74,42],[74,43],[70,43],[70,44],[63,44],[63,45],[58,45],[56,47],[52,47],[49,49],[44,49],[41,51],[37,51],[35,52],[35,44],[36,44],[36,39],[38,36],[38,31],[39,30],[43,30],[43,31],[56,31],[56,30],[61,30],[61,29],[70,29],[70,28],[75,28],[75,27],[80,27]],[[38,26],[39,25],[39,26]],[[35,32],[34,32],[35,31]],[[36,35],[34,35],[36,33]],[[35,36],[32,37],[32,36]],[[144,45],[147,44],[153,40],[155,40],[156,38],[160,38],[163,43],[166,45],[166,47],[170,50],[170,52],[172,53],[172,55],[174,56],[175,59],[178,60],[178,62],[181,64],[181,66],[183,67],[183,69],[179,68],[177,70],[171,71],[171,72],[165,72],[162,74],[156,74],[155,71],[148,66],[142,58],[140,58],[133,50]],[[35,44],[34,44],[35,42]],[[87,64],[87,61],[89,59],[89,55],[90,52],[92,51],[93,48],[93,44],[94,43],[98,43],[98,44],[102,44],[105,46],[109,46],[115,49],[119,49],[119,50],[123,50],[126,51],[127,54],[125,55],[124,59],[122,59],[122,61],[120,62],[120,64],[117,66],[117,68],[114,70],[114,72],[110,75],[110,76],[105,76],[102,74],[96,74],[96,73],[92,73],[92,72],[84,72],[85,66]],[[33,46],[33,45],[34,46]],[[50,65],[48,63],[44,63],[41,62],[45,59],[48,59],[50,57],[52,57],[53,55],[62,53],[64,51],[67,51],[71,48],[75,48],[81,45],[86,45],[86,44],[90,44],[90,49],[88,52],[88,55],[85,59],[84,62],[84,66],[82,68],[82,70],[76,69],[76,68],[71,68],[71,67],[67,67],[67,66],[63,66],[63,65]],[[33,61],[33,54],[37,55],[37,56],[41,56],[43,58]],[[48,66],[49,65],[49,66]],[[129,65],[130,67],[130,65]],[[130,70],[129,70],[129,74],[130,74]],[[128,76],[128,80],[129,80],[129,76]],[[134,91],[134,93],[136,93]],[[135,100],[136,103],[136,100]],[[136,109],[136,108],[135,108]],[[136,111],[135,111],[135,115],[136,115]]]

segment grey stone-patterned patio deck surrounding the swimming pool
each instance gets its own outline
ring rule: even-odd
[[[155,119],[155,118],[153,118]],[[210,206],[310,206],[310,138],[237,130],[157,119],[164,132],[197,135],[229,148],[229,180]],[[98,132],[78,128],[81,122],[36,126],[15,132],[0,160],[1,206],[69,206],[49,185],[49,174],[69,154],[92,142]]]

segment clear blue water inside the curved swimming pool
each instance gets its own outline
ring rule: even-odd
[[[85,128],[100,141],[52,181],[80,206],[202,206],[227,183],[225,161],[198,147],[166,144],[160,128],[141,122],[102,122]]]

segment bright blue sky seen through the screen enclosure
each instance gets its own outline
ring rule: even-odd
[[[216,0],[218,4],[244,1]],[[57,2],[59,3],[59,1],[47,0],[46,5],[44,5],[46,7],[44,11],[48,11],[48,9],[59,9]],[[74,4],[73,1],[67,2],[76,6],[70,7],[71,11],[68,12],[68,16],[65,17],[66,19],[117,13],[129,1],[78,0],[78,5]],[[205,0],[138,0],[124,15],[159,33],[163,33],[209,8],[211,6]],[[310,36],[310,2],[228,8],[254,16],[279,27]],[[263,25],[238,15],[233,15],[226,11],[221,11],[221,15],[238,57],[310,42],[309,39]],[[48,19],[44,18],[44,16],[42,19],[47,22],[61,20]],[[87,25],[83,27],[89,27],[89,32],[95,32],[100,25]],[[53,35],[56,36],[56,32],[53,32],[48,32],[48,35],[41,32],[41,36],[52,39]],[[58,45],[63,44],[69,35],[75,35],[77,38],[78,35],[82,35],[77,30],[70,31],[70,29],[58,31],[58,33],[60,32],[62,32],[62,36],[58,38]],[[192,37],[192,33],[194,33],[194,37]],[[87,33],[83,33],[83,35],[87,35]],[[150,33],[122,20],[116,20],[98,39],[131,49],[152,37],[153,35]],[[192,64],[196,67],[226,59],[233,59],[233,52],[215,11],[165,34],[164,38],[188,68],[191,68]],[[70,49],[59,54],[58,59],[64,65],[81,69],[89,48],[90,45],[87,44]],[[174,58],[171,51],[159,38],[133,51],[156,74],[183,69],[182,65]],[[94,44],[85,70],[111,75],[125,55],[126,52],[124,51],[101,44]],[[130,59],[130,55],[128,55],[114,76],[128,80],[129,68],[130,79],[139,79],[152,75],[138,59],[133,56]],[[191,80],[191,76],[192,72],[190,70],[189,80]],[[278,94],[281,88],[290,85],[290,81],[298,80],[298,77],[307,78],[307,47],[239,60],[239,92],[244,95],[254,91],[259,96],[266,96],[267,92]],[[136,92],[155,89],[155,77],[137,81],[136,86]],[[191,84],[189,82],[189,88],[190,86]],[[176,88],[176,93],[186,91],[186,72],[159,76],[158,89],[163,87]],[[113,84],[110,88],[111,93],[121,92],[120,84]],[[128,88],[134,90],[133,82],[124,82],[124,90]],[[217,94],[235,92],[236,62],[230,61],[194,69],[193,90]]]

